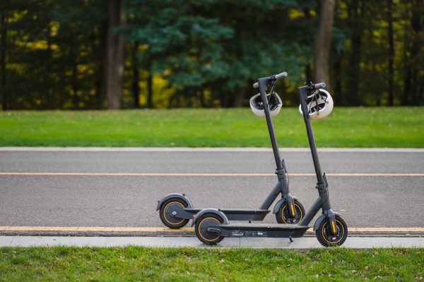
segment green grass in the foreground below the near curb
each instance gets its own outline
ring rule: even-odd
[[[0,248],[0,281],[420,281],[424,249]]]

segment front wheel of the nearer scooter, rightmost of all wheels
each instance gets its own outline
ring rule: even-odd
[[[341,246],[346,241],[346,238],[348,238],[348,225],[341,216],[336,216],[336,225],[338,228],[336,235],[330,234],[326,220],[322,221],[319,224],[319,228],[315,231],[319,243],[324,247]]]

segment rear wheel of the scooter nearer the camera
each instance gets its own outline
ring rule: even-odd
[[[209,233],[206,228],[223,223],[223,219],[216,214],[204,214],[199,217],[194,226],[197,238],[205,245],[216,245],[224,238],[221,235]]]

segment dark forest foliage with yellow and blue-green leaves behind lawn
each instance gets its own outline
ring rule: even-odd
[[[254,80],[281,71],[278,92],[297,104],[295,88],[314,79],[321,2],[126,0],[126,24],[112,26],[125,39],[122,106],[245,106]],[[336,104],[424,104],[423,9],[336,1],[326,60]],[[107,106],[110,12],[100,0],[1,1],[3,109]]]

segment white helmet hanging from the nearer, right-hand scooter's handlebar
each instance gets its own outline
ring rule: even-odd
[[[306,106],[310,119],[319,119],[325,118],[333,111],[334,102],[328,91],[319,89],[307,97]],[[303,114],[302,105],[299,105],[299,111]]]

